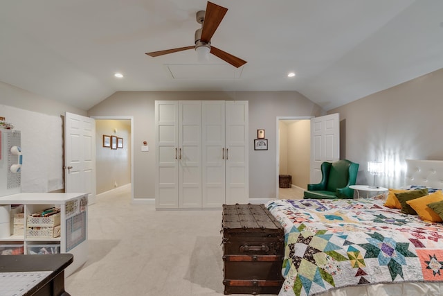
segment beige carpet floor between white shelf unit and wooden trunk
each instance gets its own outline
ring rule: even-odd
[[[128,189],[89,206],[88,261],[66,279],[66,291],[224,295],[221,209],[156,211],[154,204],[132,204]]]

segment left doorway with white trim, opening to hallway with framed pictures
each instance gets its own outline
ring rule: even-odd
[[[134,200],[133,117],[93,116],[92,118],[96,121],[97,194],[130,184],[131,200]],[[109,145],[105,143],[108,140]],[[116,145],[113,140],[116,141]]]

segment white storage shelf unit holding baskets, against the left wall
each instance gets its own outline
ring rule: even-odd
[[[23,246],[24,254],[35,252],[73,254],[74,261],[65,270],[65,276],[68,277],[87,261],[87,196],[87,193],[17,193],[0,196],[1,205],[23,204],[24,206],[24,234],[11,233],[10,236],[0,237],[0,250],[5,250],[8,246]],[[47,234],[43,234],[42,237],[39,233],[29,231],[27,233],[27,217],[50,207],[60,207],[60,236],[51,238]]]

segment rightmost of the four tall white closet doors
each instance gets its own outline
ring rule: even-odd
[[[226,204],[248,203],[248,101],[226,101]]]

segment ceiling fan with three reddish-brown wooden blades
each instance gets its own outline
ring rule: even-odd
[[[158,57],[159,55],[166,55],[168,53],[177,53],[178,51],[186,51],[188,49],[195,49],[197,55],[201,53],[212,53],[213,55],[221,58],[225,62],[232,64],[234,67],[241,67],[246,64],[245,60],[237,58],[226,51],[217,49],[217,47],[210,44],[210,39],[213,37],[217,27],[221,23],[221,20],[226,15],[228,8],[218,6],[217,4],[208,1],[206,5],[206,11],[200,10],[197,12],[197,23],[201,24],[201,28],[195,31],[195,45],[179,47],[177,49],[166,49],[165,51],[152,51],[146,53],[152,57]]]

